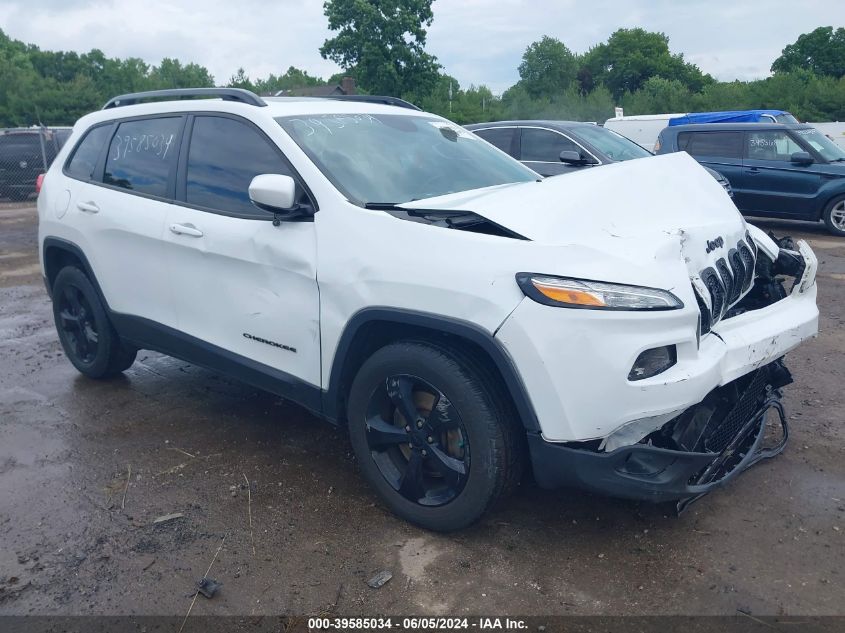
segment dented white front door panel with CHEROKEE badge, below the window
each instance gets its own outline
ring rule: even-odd
[[[320,385],[314,222],[173,207],[165,241],[179,330]]]

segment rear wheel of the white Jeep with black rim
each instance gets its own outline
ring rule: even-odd
[[[138,350],[125,345],[106,315],[93,284],[80,269],[62,268],[53,282],[53,319],[65,354],[89,378],[128,369]]]

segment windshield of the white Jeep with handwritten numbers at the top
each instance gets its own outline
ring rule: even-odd
[[[407,114],[279,117],[352,202],[401,204],[539,176],[453,123]]]

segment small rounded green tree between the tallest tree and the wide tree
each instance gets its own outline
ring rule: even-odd
[[[575,55],[563,42],[548,35],[525,49],[519,65],[520,81],[533,98],[566,90],[577,74]]]

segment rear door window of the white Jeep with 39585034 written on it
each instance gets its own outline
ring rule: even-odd
[[[164,197],[179,154],[182,117],[124,121],[109,145],[103,182]]]

